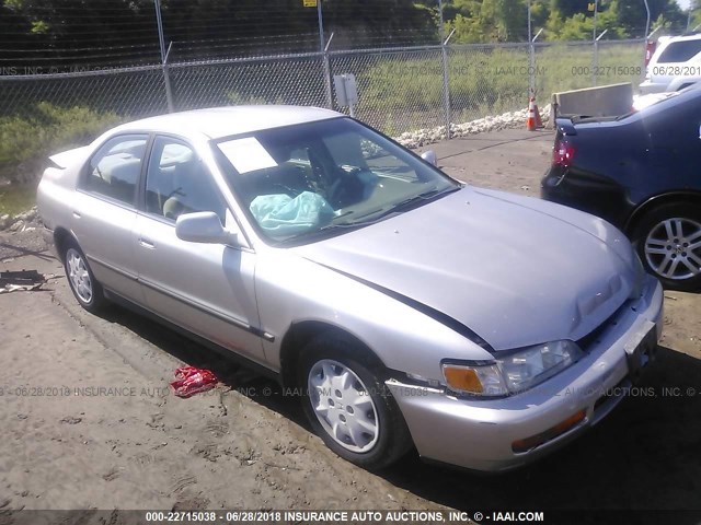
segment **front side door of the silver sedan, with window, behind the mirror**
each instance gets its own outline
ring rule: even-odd
[[[188,143],[158,136],[137,214],[136,254],[147,307],[210,341],[263,362],[253,288],[255,254],[175,235],[181,214],[227,206],[211,174]]]

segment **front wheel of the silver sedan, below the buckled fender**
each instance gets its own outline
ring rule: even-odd
[[[304,393],[304,415],[326,446],[359,467],[379,470],[405,455],[413,443],[381,368],[360,364],[367,362],[364,357],[344,338],[317,337],[302,350],[298,384]]]

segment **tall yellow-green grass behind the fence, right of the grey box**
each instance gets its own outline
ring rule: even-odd
[[[642,80],[642,45],[601,43],[597,85]],[[540,105],[552,93],[593,85],[593,47],[537,47],[535,82]],[[453,122],[522,109],[528,105],[528,47],[453,46],[448,52]],[[346,63],[358,83],[356,115],[389,135],[444,124],[440,51],[378,56]]]

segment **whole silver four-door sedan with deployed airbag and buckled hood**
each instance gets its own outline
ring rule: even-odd
[[[39,211],[83,307],[244,358],[366,468],[413,447],[492,471],[540,457],[618,405],[660,336],[621,232],[468,187],[334,112],[172,114],[51,162]]]

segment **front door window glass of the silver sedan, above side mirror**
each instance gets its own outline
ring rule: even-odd
[[[170,220],[214,211],[225,221],[223,199],[208,170],[188,144],[169,137],[153,141],[146,174],[146,211]]]

